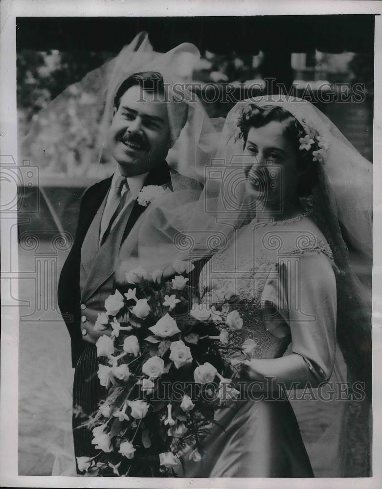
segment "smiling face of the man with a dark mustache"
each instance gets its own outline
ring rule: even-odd
[[[112,156],[122,175],[147,173],[167,156],[170,127],[166,106],[162,96],[145,92],[138,85],[122,95],[109,131]]]

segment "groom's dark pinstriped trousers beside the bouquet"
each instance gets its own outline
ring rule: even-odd
[[[99,363],[107,361],[106,357],[97,357],[95,345],[87,343],[75,368],[72,426],[76,457],[93,457],[99,452],[91,445],[91,430],[83,426],[83,423],[87,422],[98,408],[99,401],[106,398],[106,388],[100,385],[97,372]]]

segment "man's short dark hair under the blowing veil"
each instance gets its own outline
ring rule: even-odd
[[[123,94],[135,85],[138,85],[141,89],[152,93],[152,100],[155,100],[154,95],[160,95],[164,96],[165,100],[169,104],[171,103],[171,118],[169,117],[169,122],[172,130],[171,137],[173,142],[175,142],[179,137],[180,131],[183,129],[187,122],[188,104],[186,102],[170,102],[168,100],[168,94],[166,93],[163,76],[161,75],[161,73],[159,73],[158,71],[141,71],[139,73],[134,73],[133,75],[129,76],[129,78],[127,78],[116,91],[114,97],[115,109],[118,109]]]

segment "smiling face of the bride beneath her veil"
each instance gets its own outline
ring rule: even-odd
[[[280,210],[295,199],[299,179],[296,150],[284,136],[284,129],[285,123],[276,121],[252,127],[244,148],[246,156],[253,156],[253,163],[246,168],[247,193]]]

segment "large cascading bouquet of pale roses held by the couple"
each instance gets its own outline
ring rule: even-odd
[[[219,354],[242,325],[238,312],[199,304],[186,262],[174,268],[168,281],[159,270],[151,281],[141,267],[128,272],[135,288],[109,296],[97,318],[95,329],[112,334],[96,344],[108,396],[87,423],[99,452],[77,458],[88,476],[174,476],[181,456],[202,459],[215,411],[239,394]]]

